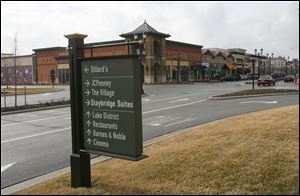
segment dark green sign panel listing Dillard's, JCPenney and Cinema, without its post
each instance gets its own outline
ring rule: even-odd
[[[141,73],[136,56],[81,62],[84,149],[142,155]]]

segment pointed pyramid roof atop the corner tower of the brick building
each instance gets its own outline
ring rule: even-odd
[[[132,37],[135,34],[146,34],[146,35],[156,35],[156,36],[160,36],[160,37],[170,37],[169,34],[165,34],[165,33],[161,33],[158,32],[157,30],[155,30],[153,27],[151,27],[146,20],[144,21],[144,23],[142,25],[140,25],[138,28],[136,28],[134,31],[128,32],[128,33],[124,33],[121,34],[121,37]]]

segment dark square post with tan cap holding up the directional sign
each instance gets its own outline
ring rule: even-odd
[[[82,108],[79,103],[81,98],[81,79],[78,58],[84,54],[83,39],[87,35],[71,34],[66,35],[69,39],[69,62],[70,62],[70,98],[71,98],[71,125],[72,125],[72,155],[71,155],[71,186],[90,187],[90,155],[87,152],[81,152],[83,147],[82,141]]]

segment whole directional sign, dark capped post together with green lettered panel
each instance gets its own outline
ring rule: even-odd
[[[134,161],[147,157],[142,154],[141,67],[137,55],[84,58],[87,36],[65,37],[71,73],[71,186],[90,187],[90,153]]]

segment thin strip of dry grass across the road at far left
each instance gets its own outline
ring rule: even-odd
[[[51,92],[57,92],[62,91],[64,89],[62,88],[26,88],[26,94],[37,94],[37,93],[51,93]],[[14,88],[2,88],[1,94],[9,95],[15,95],[15,89]],[[25,88],[17,88],[17,95],[23,95],[25,94]]]

